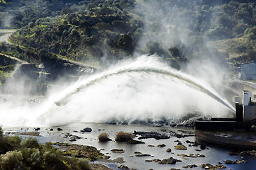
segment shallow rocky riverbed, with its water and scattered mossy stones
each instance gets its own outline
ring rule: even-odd
[[[116,142],[120,131],[134,134],[134,140],[141,142]],[[4,128],[4,132],[33,135],[41,143],[52,142],[67,156],[87,157],[94,169],[253,169],[256,158],[255,152],[199,145],[194,130],[165,126],[72,123],[48,128]],[[99,142],[103,132],[111,141]]]

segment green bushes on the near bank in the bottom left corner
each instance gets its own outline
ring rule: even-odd
[[[60,149],[50,144],[40,145],[35,138],[4,136],[0,127],[0,169],[90,169],[90,166],[87,159],[65,157]]]

